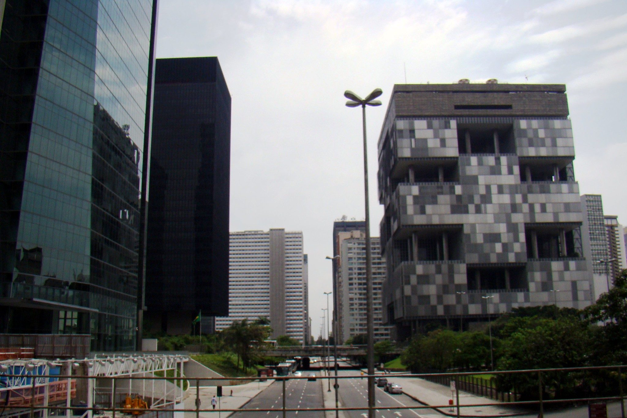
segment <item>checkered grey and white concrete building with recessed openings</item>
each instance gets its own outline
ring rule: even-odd
[[[564,85],[395,85],[379,138],[384,318],[466,329],[591,303]]]

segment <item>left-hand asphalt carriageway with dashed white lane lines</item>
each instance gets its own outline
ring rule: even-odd
[[[285,383],[285,407],[286,408],[322,408],[322,380],[310,382],[307,379],[290,379]],[[265,412],[235,412],[236,418],[282,418],[283,412],[283,383],[275,382],[267,389],[256,395],[245,409],[270,409],[277,411]],[[324,412],[320,411],[288,411],[285,414],[289,418],[320,418]]]

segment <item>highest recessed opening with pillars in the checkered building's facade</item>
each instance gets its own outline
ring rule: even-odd
[[[514,154],[512,123],[458,123],[460,154]]]

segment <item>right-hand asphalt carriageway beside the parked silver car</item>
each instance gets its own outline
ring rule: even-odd
[[[342,370],[339,375],[356,375],[359,374],[358,370]],[[389,375],[386,376],[390,379]],[[399,382],[402,385],[402,382]],[[340,379],[340,404],[342,407],[367,407],[368,405],[368,387],[367,379],[361,377],[356,379]],[[398,418],[398,417],[413,417],[413,418],[435,418],[443,417],[444,415],[438,414],[432,409],[398,409],[399,406],[420,406],[418,402],[411,399],[407,395],[390,395],[381,388],[376,388],[376,405],[378,408],[377,418]],[[366,410],[350,410],[344,411],[344,413],[350,418],[362,418],[367,416]],[[365,415],[364,415],[365,414]]]

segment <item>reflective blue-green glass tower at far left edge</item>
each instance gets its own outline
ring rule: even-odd
[[[135,347],[156,3],[0,2],[0,332]]]

